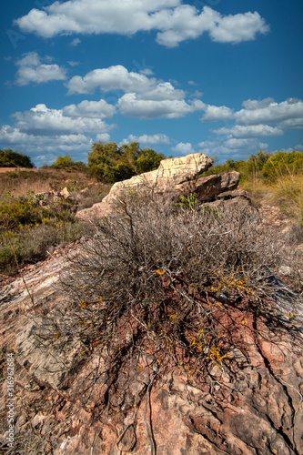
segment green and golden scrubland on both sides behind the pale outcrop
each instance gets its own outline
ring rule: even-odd
[[[164,158],[154,150],[140,149],[137,143],[118,147],[116,143],[96,143],[88,155],[88,166],[72,157],[58,157],[52,166],[33,169],[29,157],[11,150],[1,151],[8,167],[27,163],[28,170],[0,174],[0,271],[13,273],[26,263],[45,258],[46,251],[81,238],[83,225],[76,210],[102,200],[117,180],[158,167]],[[228,159],[224,165],[208,169],[204,175],[237,170],[240,187],[257,204],[280,207],[296,220],[298,235],[303,228],[303,154],[279,152],[272,156],[259,151],[246,161]],[[34,196],[64,187],[71,198],[52,199],[45,204]],[[188,203],[192,206],[194,199]],[[181,207],[185,207],[182,203]]]

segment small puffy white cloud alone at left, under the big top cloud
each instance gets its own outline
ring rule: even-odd
[[[49,58],[45,58],[49,60]],[[18,71],[16,73],[15,84],[27,86],[31,82],[41,84],[52,80],[66,80],[66,69],[53,65],[45,65],[41,62],[40,56],[36,52],[29,52],[16,62]]]

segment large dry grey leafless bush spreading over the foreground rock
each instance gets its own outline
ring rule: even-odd
[[[283,245],[265,235],[248,204],[174,207],[127,196],[95,220],[62,278],[65,299],[36,336],[86,361],[99,349],[108,371],[194,375],[228,361],[214,315],[228,302],[273,320],[267,274]],[[75,360],[74,360],[75,361]],[[148,362],[147,362],[148,363]]]

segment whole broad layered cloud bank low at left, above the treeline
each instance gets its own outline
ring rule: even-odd
[[[96,135],[96,141],[109,141],[108,131],[114,125],[106,124],[102,118],[113,116],[115,112],[115,106],[102,99],[85,100],[63,109],[49,109],[40,104],[28,111],[16,112],[13,115],[15,126],[0,128],[0,143],[30,154],[39,166],[45,162],[51,164],[58,154],[78,155],[77,159],[84,159],[83,154],[92,144],[92,137],[87,135]]]

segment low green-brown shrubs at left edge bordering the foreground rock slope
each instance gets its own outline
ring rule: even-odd
[[[68,199],[40,206],[38,195],[6,194],[0,201],[0,271],[11,273],[43,259],[48,248],[66,245],[81,233]]]

